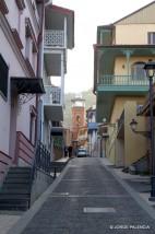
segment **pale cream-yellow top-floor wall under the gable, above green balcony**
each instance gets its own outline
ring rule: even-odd
[[[147,44],[147,32],[154,32],[154,24],[126,24],[116,26],[117,45]]]

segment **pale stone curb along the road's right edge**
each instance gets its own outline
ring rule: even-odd
[[[99,159],[102,162],[102,159]],[[131,197],[140,204],[140,207],[145,210],[152,219],[155,220],[155,210],[147,204],[147,202],[140,197],[140,195],[131,188],[121,177],[119,177],[112,169],[108,168],[107,165],[102,162],[102,165],[112,174],[112,176],[122,185],[122,187],[131,195]]]

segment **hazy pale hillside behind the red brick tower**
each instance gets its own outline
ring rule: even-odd
[[[85,100],[85,109],[96,104],[96,96],[93,94],[92,90],[84,91],[81,93],[82,98]],[[65,109],[64,109],[64,127],[71,127],[72,118],[71,118],[71,100],[75,97],[75,93],[67,93],[64,95]]]

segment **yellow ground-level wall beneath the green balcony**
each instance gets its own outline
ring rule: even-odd
[[[127,97],[128,98],[128,97]],[[141,102],[143,98],[138,98]],[[134,118],[138,122],[138,130],[146,130],[146,119],[145,117],[136,116],[136,102],[134,98],[126,100],[122,97],[117,98],[114,108],[114,117],[119,118],[122,110],[119,106],[122,105],[122,110],[124,109],[124,134],[118,136],[117,128],[109,128],[109,139],[107,144],[107,157],[117,166],[129,166],[147,152],[148,140],[142,134],[134,133],[131,130],[130,122]]]

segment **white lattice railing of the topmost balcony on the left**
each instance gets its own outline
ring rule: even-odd
[[[46,30],[44,45],[45,47],[64,47],[64,31]]]

